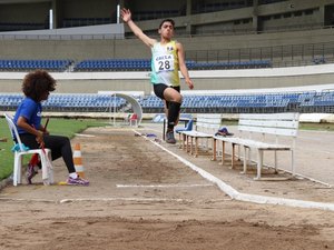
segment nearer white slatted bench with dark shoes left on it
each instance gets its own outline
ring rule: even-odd
[[[225,161],[225,143],[232,144],[232,168],[235,166],[235,148],[240,146],[244,149],[244,171],[247,171],[247,163],[250,161],[250,150],[257,151],[257,176],[261,179],[261,170],[263,168],[264,151],[274,151],[274,167],[277,171],[277,153],[276,151],[292,152],[292,173],[295,173],[294,151],[299,123],[298,113],[257,113],[240,114],[238,122],[239,137],[214,137],[213,160],[216,160],[217,141],[222,142],[222,163]],[[247,134],[245,134],[247,133]],[[259,134],[259,139],[254,139],[255,133]],[[269,134],[274,136],[272,140],[267,139]],[[288,142],[281,143],[278,138],[287,138]],[[248,153],[247,153],[248,150]]]

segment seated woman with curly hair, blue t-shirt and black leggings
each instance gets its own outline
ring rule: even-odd
[[[36,70],[28,73],[22,83],[26,98],[17,109],[14,123],[22,143],[30,149],[48,148],[51,150],[52,160],[62,157],[69,172],[68,184],[88,186],[89,181],[81,179],[75,169],[72,149],[67,137],[51,136],[41,124],[41,101],[47,100],[49,93],[56,89],[56,80],[45,70]],[[40,167],[40,162],[39,162]],[[29,164],[27,181],[38,173],[36,166]]]

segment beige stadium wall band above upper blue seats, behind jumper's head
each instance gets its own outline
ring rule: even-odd
[[[1,38],[1,36],[0,36]],[[176,37],[184,43],[186,54],[203,51],[247,48],[279,50],[282,46],[332,43],[334,29],[276,32],[239,36]],[[149,58],[150,50],[138,39],[75,39],[75,40],[30,40],[0,39],[1,59],[85,59]],[[279,51],[278,51],[279,52]],[[331,51],[330,51],[331,52]],[[257,52],[261,53],[261,52]],[[332,52],[333,54],[333,52]],[[238,54],[236,54],[237,57]],[[258,54],[253,54],[258,58]],[[263,54],[266,58],[266,54]],[[289,57],[288,51],[286,57]],[[195,59],[195,56],[194,58]],[[281,60],[281,59],[279,59]]]

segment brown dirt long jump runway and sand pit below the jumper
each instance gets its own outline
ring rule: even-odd
[[[8,184],[0,249],[334,249],[334,193],[304,180],[255,181],[159,129],[90,128],[80,143],[89,187]]]

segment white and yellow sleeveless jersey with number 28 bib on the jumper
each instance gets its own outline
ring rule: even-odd
[[[166,44],[157,42],[151,48],[151,77],[150,82],[167,86],[179,86],[179,64],[176,41]]]

